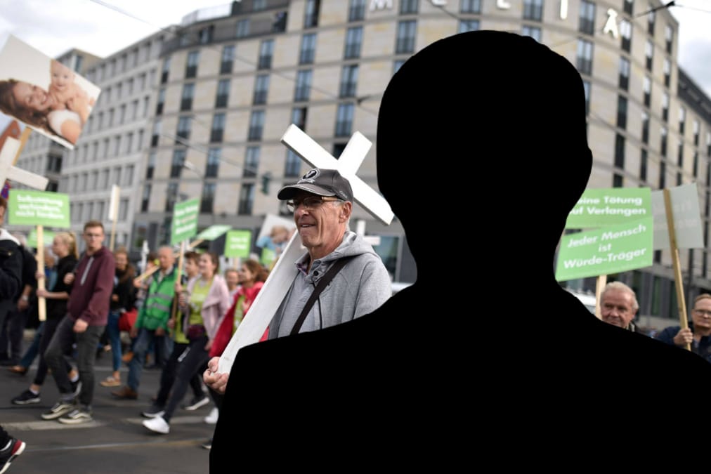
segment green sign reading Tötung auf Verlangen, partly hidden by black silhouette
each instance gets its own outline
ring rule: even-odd
[[[650,188],[588,189],[565,222],[566,229],[623,224],[652,215]]]

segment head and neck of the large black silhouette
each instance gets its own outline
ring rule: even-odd
[[[592,167],[584,87],[567,59],[502,31],[436,41],[390,80],[377,139],[378,188],[405,227],[418,274],[422,258],[436,255],[433,239],[447,236],[463,252],[518,251],[552,275]],[[462,223],[473,232],[455,232]]]

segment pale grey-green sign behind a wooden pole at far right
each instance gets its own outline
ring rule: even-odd
[[[669,195],[674,212],[677,247],[680,249],[702,249],[704,235],[696,183],[670,188]],[[654,217],[653,249],[668,249],[669,232],[662,190],[652,192],[652,214]]]

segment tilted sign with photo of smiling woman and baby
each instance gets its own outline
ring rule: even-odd
[[[101,89],[64,65],[9,36],[0,50],[0,112],[74,149]]]

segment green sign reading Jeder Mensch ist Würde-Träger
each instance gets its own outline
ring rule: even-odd
[[[653,217],[565,235],[560,239],[557,281],[651,266]]]

